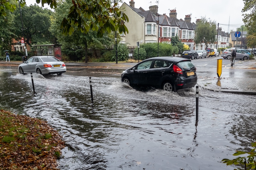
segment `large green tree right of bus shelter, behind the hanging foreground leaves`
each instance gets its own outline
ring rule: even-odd
[[[87,63],[88,48],[91,48],[94,51],[93,54],[97,58],[95,49],[103,49],[108,47],[109,45],[113,45],[114,39],[109,38],[107,36],[107,33],[104,33],[102,37],[97,37],[97,31],[89,30],[87,33],[85,32],[81,33],[81,31],[78,31],[77,29],[75,29],[73,33],[68,34],[67,36],[64,36],[62,34],[60,25],[62,22],[62,18],[68,16],[68,9],[70,7],[70,4],[72,4],[71,0],[63,1],[62,3],[59,4],[60,6],[58,6],[55,13],[52,14],[52,17],[51,17],[52,24],[49,30],[52,34],[56,35],[58,42],[60,42],[60,44],[62,45],[62,48],[65,49],[63,51],[69,51],[68,52],[69,54],[72,53],[73,51],[73,56],[76,56],[76,58],[73,58],[75,60],[79,59],[77,58],[77,56],[79,56],[77,55],[77,53],[82,54],[85,56],[85,63]],[[82,50],[84,51],[84,53],[82,52]],[[83,57],[82,55],[80,55],[80,59]]]

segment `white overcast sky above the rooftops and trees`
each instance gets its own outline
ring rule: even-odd
[[[149,10],[149,6],[158,4],[158,13],[166,13],[169,16],[169,11],[176,9],[177,18],[183,19],[185,15],[191,14],[191,22],[196,23],[196,19],[201,17],[210,18],[212,21],[220,24],[222,31],[228,32],[244,25],[242,9],[244,7],[243,0],[208,0],[203,3],[202,0],[133,0],[135,8],[142,7],[144,10]],[[158,1],[158,3],[156,2]],[[123,2],[130,4],[130,0],[123,0]],[[211,2],[211,3],[210,3]],[[26,4],[35,4],[36,0],[26,0]],[[122,4],[119,4],[121,6]],[[39,5],[41,6],[41,5]],[[44,6],[48,6],[45,4]],[[50,7],[49,7],[50,9]],[[230,16],[230,20],[229,20]],[[129,16],[128,16],[129,17]]]

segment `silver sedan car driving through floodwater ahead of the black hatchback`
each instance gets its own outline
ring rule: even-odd
[[[66,64],[53,56],[33,56],[19,65],[20,74],[57,74],[61,75],[67,70]]]

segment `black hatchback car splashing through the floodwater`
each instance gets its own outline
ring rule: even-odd
[[[196,85],[196,67],[189,59],[181,57],[153,57],[124,70],[121,81],[176,92]]]

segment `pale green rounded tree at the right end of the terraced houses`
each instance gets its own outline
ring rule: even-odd
[[[201,19],[201,22],[198,23],[195,30],[195,43],[205,43],[214,44],[215,43],[215,35],[217,35],[216,31],[216,22],[207,20],[206,17]]]

